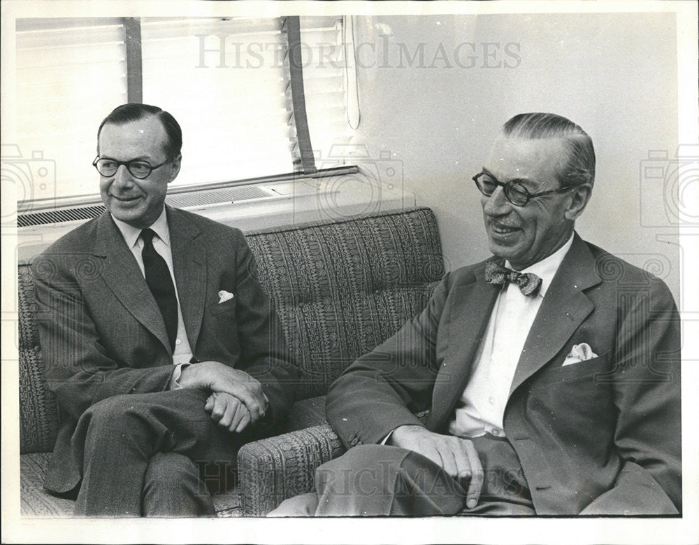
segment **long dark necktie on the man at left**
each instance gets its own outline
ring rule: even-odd
[[[170,269],[168,269],[168,264],[163,259],[163,256],[153,248],[154,234],[152,229],[143,229],[140,232],[140,238],[143,239],[143,250],[141,250],[140,255],[143,257],[145,283],[150,288],[160,313],[163,315],[170,348],[174,351],[178,320],[175,284],[173,283]]]

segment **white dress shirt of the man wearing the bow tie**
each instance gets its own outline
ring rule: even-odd
[[[514,283],[500,291],[476,354],[475,369],[449,423],[450,434],[479,437],[489,433],[505,437],[503,416],[517,362],[536,313],[570,246],[572,234],[555,253],[520,271],[542,279],[536,297],[527,297]],[[505,261],[505,267],[512,268],[509,261]]]

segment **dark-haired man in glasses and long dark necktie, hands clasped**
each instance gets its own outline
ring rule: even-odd
[[[33,266],[62,413],[44,486],[80,516],[212,516],[240,444],[289,410],[297,369],[243,234],[165,205],[173,116],[125,104],[97,137],[106,212]]]

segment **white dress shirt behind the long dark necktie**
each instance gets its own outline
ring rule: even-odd
[[[124,223],[117,220],[112,216],[115,224],[119,228],[124,241],[126,241],[129,250],[136,257],[136,263],[140,268],[140,274],[143,274],[145,278],[145,268],[143,267],[143,256],[141,252],[143,251],[143,239],[140,238],[140,232],[142,229],[132,227],[128,223]],[[153,237],[153,248],[159,253],[165,262],[168,264],[168,269],[170,269],[170,276],[173,278],[173,285],[175,285],[175,297],[177,297],[177,338],[175,339],[175,351],[173,353],[173,364],[178,365],[178,369],[175,371],[175,376],[173,376],[173,388],[177,387],[176,381],[180,376],[180,365],[183,363],[189,363],[192,360],[192,347],[189,346],[189,341],[187,340],[187,332],[185,331],[185,320],[182,319],[182,309],[180,308],[180,296],[178,295],[177,282],[175,281],[175,273],[173,271],[173,252],[170,246],[170,228],[168,227],[168,220],[165,213],[165,208],[160,213],[159,217],[153,225],[150,226],[153,230],[155,236]]]

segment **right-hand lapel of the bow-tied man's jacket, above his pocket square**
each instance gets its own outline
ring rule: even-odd
[[[546,292],[514,372],[512,392],[561,351],[573,332],[594,309],[582,292],[600,283],[595,260],[575,234],[568,254]]]

